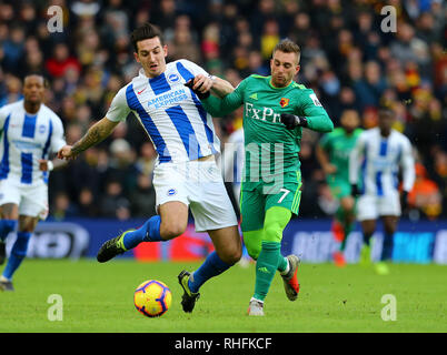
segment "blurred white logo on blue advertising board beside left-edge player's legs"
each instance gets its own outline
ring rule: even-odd
[[[7,239],[8,255],[16,241],[16,233]],[[28,245],[27,257],[37,258],[79,258],[87,253],[89,232],[76,223],[39,223]]]

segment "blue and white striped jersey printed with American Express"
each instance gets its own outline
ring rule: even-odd
[[[143,70],[113,98],[106,114],[113,122],[133,112],[158,153],[159,163],[185,162],[220,152],[212,118],[197,95],[183,84],[208,73],[199,65],[178,60],[166,71],[147,78]]]

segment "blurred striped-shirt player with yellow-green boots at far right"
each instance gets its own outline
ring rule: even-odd
[[[384,261],[391,260],[393,236],[396,232],[401,204],[399,201],[399,168],[403,175],[403,204],[415,182],[415,161],[409,140],[393,129],[395,112],[390,105],[379,106],[378,126],[364,131],[350,154],[349,182],[357,202],[357,219],[361,223],[364,246],[360,263],[370,262],[370,239],[376,231],[376,221],[384,222],[384,243],[376,272],[388,274]],[[360,176],[360,182],[358,181]]]

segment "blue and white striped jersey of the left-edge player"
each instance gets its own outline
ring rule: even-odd
[[[39,170],[39,159],[48,159],[66,144],[59,116],[43,103],[29,114],[20,100],[0,109],[0,180],[47,183],[48,172]]]

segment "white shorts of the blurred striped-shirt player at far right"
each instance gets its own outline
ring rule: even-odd
[[[388,196],[362,195],[357,201],[359,221],[377,220],[383,215],[400,216],[399,194]]]

